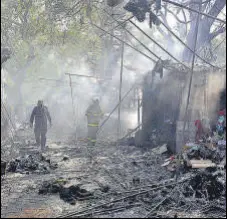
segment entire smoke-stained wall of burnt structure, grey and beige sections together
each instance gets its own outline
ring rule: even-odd
[[[185,120],[186,141],[194,141],[195,120],[209,120],[209,126],[213,127],[218,111],[226,107],[223,103],[226,98],[225,70],[212,70],[204,66],[195,69],[187,114],[188,72],[175,69],[166,71],[162,76],[150,71],[142,86],[142,129],[135,135],[137,146],[152,147],[152,136],[155,135],[160,140],[159,144],[168,143],[172,152],[179,153],[185,142]]]

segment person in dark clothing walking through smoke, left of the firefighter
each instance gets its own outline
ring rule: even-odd
[[[50,113],[46,106],[43,105],[43,101],[39,100],[37,106],[34,107],[31,118],[30,127],[33,127],[33,122],[35,119],[34,133],[37,146],[41,145],[41,150],[45,150],[46,146],[46,133],[47,133],[47,120],[51,126]],[[40,140],[41,138],[41,140]]]

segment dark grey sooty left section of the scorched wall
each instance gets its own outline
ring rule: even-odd
[[[157,130],[157,144],[167,143],[175,151],[176,121],[181,104],[181,93],[185,75],[176,71],[159,74],[149,72],[144,79],[142,99],[142,136],[149,141]],[[143,144],[142,144],[143,145]],[[154,143],[150,147],[156,147]]]

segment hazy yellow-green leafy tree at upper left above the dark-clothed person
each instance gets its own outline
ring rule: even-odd
[[[5,67],[14,82],[11,90],[15,106],[23,103],[24,81],[37,77],[40,64],[52,53],[57,53],[59,63],[67,63],[68,58],[80,63],[86,57],[87,64],[95,68],[101,44],[88,20],[99,17],[96,11],[89,13],[88,3],[90,1],[1,1],[1,40],[13,51]],[[57,73],[53,77],[56,76]]]

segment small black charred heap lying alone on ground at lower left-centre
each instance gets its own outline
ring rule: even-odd
[[[76,200],[86,200],[93,196],[92,192],[81,188],[81,185],[65,187],[66,183],[67,180],[63,178],[44,181],[39,189],[39,194],[59,193],[60,198],[71,205],[75,205]]]

